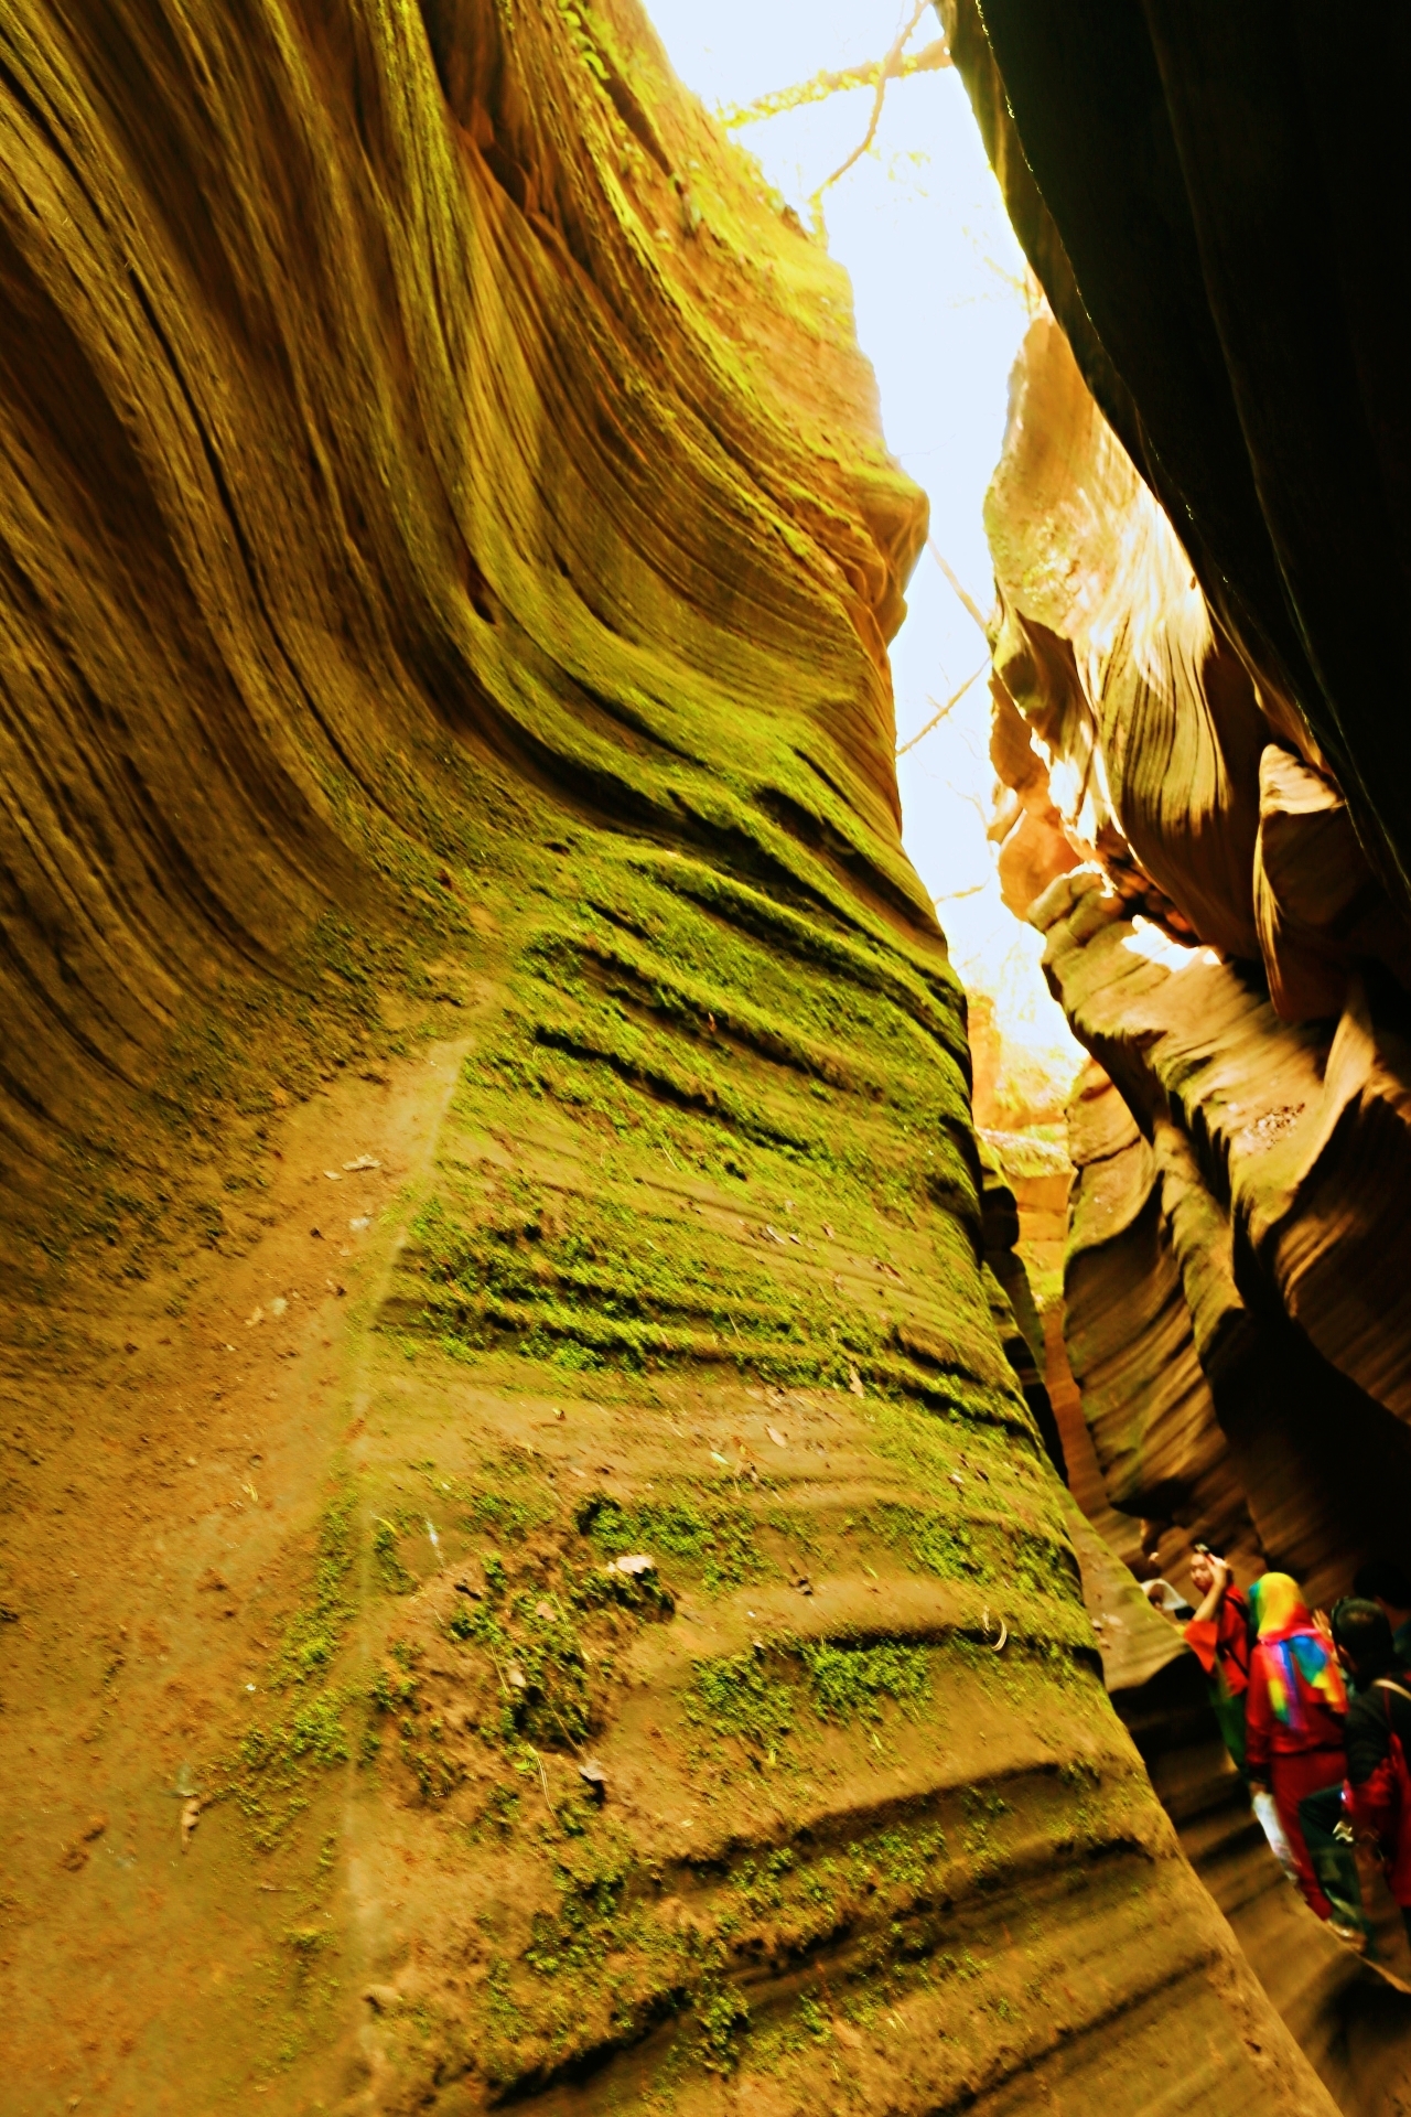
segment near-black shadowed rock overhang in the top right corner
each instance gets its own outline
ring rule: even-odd
[[[1405,218],[1383,146],[1405,23],[1367,23],[1331,59],[1312,17],[1257,8],[946,0],[941,15],[1096,402],[1269,724],[1333,768],[1407,910],[1411,775],[1388,709],[1409,565],[1403,332],[1379,292],[1381,229],[1348,233]]]

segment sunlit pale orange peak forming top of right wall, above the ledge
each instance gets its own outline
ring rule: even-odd
[[[1100,857],[1149,910],[1174,904],[1216,946],[1254,953],[1265,722],[1051,318],[1030,326],[1020,356],[986,527],[1001,597],[994,675],[1030,749],[1001,707],[994,764],[1026,802],[1024,843],[1047,824],[1051,872]],[[1009,840],[1001,872],[1005,853]],[[1037,876],[1043,862],[1030,853],[1028,866]]]

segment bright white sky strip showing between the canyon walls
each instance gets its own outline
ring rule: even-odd
[[[679,76],[711,108],[880,59],[912,11],[901,0],[645,4]],[[939,21],[927,11],[910,49],[935,36]],[[872,89],[857,89],[736,138],[808,222],[808,195],[863,138],[869,112]],[[1028,311],[1024,256],[954,70],[888,85],[874,148],[827,193],[825,218],[829,250],[853,277],[857,337],[878,375],[886,440],[931,495],[935,544],[988,610],[994,584],[979,510]],[[986,661],[975,620],[929,555],[908,603],[893,646],[901,743]],[[994,995],[1005,1035],[1073,1069],[1077,1046],[1039,974],[1039,936],[998,898],[984,834],[994,785],[988,722],[977,682],[899,760],[905,845],[937,898],[956,967]]]

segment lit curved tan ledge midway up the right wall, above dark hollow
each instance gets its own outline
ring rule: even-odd
[[[1229,1213],[1242,1298],[1273,1296],[1328,1365],[1405,1421],[1400,1031],[1373,1023],[1360,989],[1331,1039],[1290,1029],[1238,965],[1123,910],[1094,874],[1056,883],[1032,908],[1070,1020],[1128,1107],[1189,1143],[1191,1171]]]

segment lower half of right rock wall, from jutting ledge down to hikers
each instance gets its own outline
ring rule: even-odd
[[[1362,1556],[1396,1550],[1411,1476],[1398,1179],[1396,1162],[1386,1166],[1405,1139],[1388,1122],[1403,1094],[1398,1039],[1348,1014],[1333,1050],[1320,1050],[1280,1025],[1233,965],[1123,919],[1121,898],[1104,895],[1094,874],[1056,883],[1032,917],[1075,1029],[1153,1139],[1149,1147],[1132,1124],[1125,1147],[1096,1164],[1098,1181],[1083,1173],[1092,1209],[1070,1232],[1068,1338],[1085,1346],[1092,1332],[1115,1363],[1115,1404],[1142,1459],[1159,1456],[1168,1425],[1183,1435],[1187,1463],[1155,1512],[1229,1535],[1229,1518],[1202,1497],[1202,1471],[1212,1450],[1223,1454],[1214,1404],[1269,1558],[1316,1594],[1345,1592]],[[1128,1262],[1121,1222],[1134,1192],[1149,1200],[1151,1188],[1123,1175],[1123,1160],[1159,1171],[1166,1241],[1144,1264]],[[1087,1281],[1115,1285],[1123,1270],[1130,1306],[1119,1313]],[[1157,1349],[1132,1332],[1149,1308],[1172,1315],[1183,1368],[1157,1361],[1174,1340]],[[1172,1416],[1163,1406],[1178,1376],[1189,1395]]]

